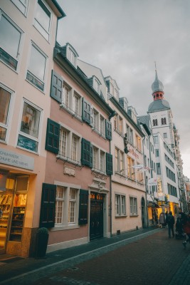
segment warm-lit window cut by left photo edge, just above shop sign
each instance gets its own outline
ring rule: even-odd
[[[11,93],[0,86],[0,140],[6,141]]]

